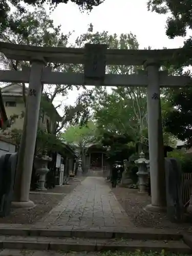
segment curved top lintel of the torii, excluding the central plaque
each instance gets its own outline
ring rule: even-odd
[[[89,46],[90,44],[86,44]],[[94,45],[103,46],[106,45]],[[70,47],[37,47],[26,45],[15,45],[6,42],[0,42],[0,51],[9,59],[31,60],[34,56],[45,58],[47,62],[58,63],[84,63],[85,48]],[[106,65],[143,65],[148,59],[155,59],[157,62],[169,62],[175,55],[182,54],[183,49],[161,49],[161,50],[124,50],[124,49],[106,49]]]

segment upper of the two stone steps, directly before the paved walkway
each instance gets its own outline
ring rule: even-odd
[[[78,228],[65,228],[52,226],[52,228],[3,228],[0,227],[0,236],[42,236],[42,237],[75,237],[75,238],[93,238],[93,239],[105,239],[105,238],[122,238],[122,239],[136,239],[136,240],[181,240],[183,235],[176,230],[165,229],[139,229],[133,228],[129,231],[109,231],[107,228],[103,230],[98,229],[78,229]]]

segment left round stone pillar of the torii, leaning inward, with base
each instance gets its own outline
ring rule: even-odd
[[[24,128],[15,176],[14,202],[12,203],[14,207],[34,206],[34,203],[29,201],[29,191],[42,93],[41,73],[44,66],[44,59],[36,57],[32,60]]]

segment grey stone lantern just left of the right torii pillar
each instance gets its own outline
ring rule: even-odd
[[[148,170],[147,165],[149,164],[149,160],[144,158],[144,153],[141,152],[139,154],[139,159],[135,160],[136,165],[138,166],[137,175],[139,177],[139,193],[147,193],[147,184],[148,184]]]

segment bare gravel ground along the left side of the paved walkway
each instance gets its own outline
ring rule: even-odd
[[[32,209],[12,208],[9,216],[0,218],[0,223],[31,224],[38,221],[67,194],[71,193],[79,183],[79,181],[70,180],[69,185],[48,189],[44,194],[30,194],[30,200],[35,203],[35,207]]]

